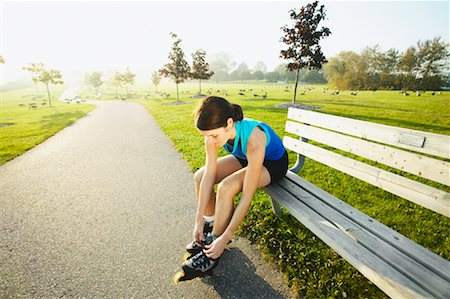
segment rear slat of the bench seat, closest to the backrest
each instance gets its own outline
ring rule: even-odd
[[[320,189],[316,185],[299,177],[297,174],[291,171],[286,174],[286,181],[287,180],[289,180],[299,188],[307,190],[308,193],[313,197],[326,198],[327,205],[331,206],[336,211],[339,211],[339,213],[341,213],[348,219],[351,219],[358,225],[363,226],[366,230],[378,236],[378,238],[381,238],[385,242],[391,244],[399,250],[404,251],[406,255],[419,257],[418,259],[422,264],[427,265],[427,267],[430,269],[433,269],[434,272],[436,272],[439,276],[441,276],[449,283],[450,287],[450,262],[446,259],[440,257],[432,251],[429,251],[425,247],[417,244],[416,242],[403,236],[397,231],[389,228],[388,226],[376,221],[372,217],[366,215],[365,213],[354,208],[348,203],[336,198],[328,192]],[[297,192],[297,189],[295,190],[295,192]]]

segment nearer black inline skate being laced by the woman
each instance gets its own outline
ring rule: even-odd
[[[216,237],[211,233],[208,234],[205,240],[205,244],[211,244]],[[178,283],[181,281],[192,280],[194,278],[201,278],[213,274],[214,269],[219,263],[219,259],[210,259],[201,250],[199,253],[194,255],[191,259],[185,261],[182,265],[182,271],[178,272],[174,277],[174,282]]]

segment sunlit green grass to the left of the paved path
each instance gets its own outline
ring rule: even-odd
[[[58,101],[64,87],[53,88],[52,107],[44,88],[0,92],[0,165],[21,155],[95,108]],[[30,109],[35,103],[37,108]]]

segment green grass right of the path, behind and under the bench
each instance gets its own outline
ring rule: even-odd
[[[170,93],[168,98],[159,94],[148,96],[144,92],[140,102],[155,117],[160,127],[174,142],[188,161],[192,171],[204,163],[203,139],[193,126],[193,114],[200,99],[191,98],[197,93],[195,83],[180,85],[183,105],[173,105],[176,99],[174,86],[160,87],[160,92]],[[246,117],[263,120],[280,135],[284,135],[285,109],[272,106],[289,102],[292,88],[280,84],[203,84],[203,93],[223,96],[240,104]],[[245,90],[244,95],[239,95]],[[287,90],[287,91],[285,91]],[[450,134],[449,93],[417,97],[403,96],[398,91],[358,92],[333,90],[324,86],[299,86],[298,100],[317,105],[319,112],[340,115],[376,123]],[[266,94],[266,98],[261,95]],[[139,92],[138,92],[139,94]],[[254,94],[258,96],[254,96]],[[224,152],[222,152],[224,154]],[[290,154],[293,165],[294,155]],[[450,259],[450,221],[414,203],[382,191],[367,183],[340,173],[318,162],[307,159],[300,176],[313,182],[338,198],[350,203],[378,221],[392,227],[435,253]],[[439,189],[450,188],[429,182]],[[361,196],[364,194],[364,196]],[[194,199],[193,199],[194,200]],[[238,199],[236,199],[238,200]],[[341,259],[327,245],[318,240],[305,227],[288,214],[276,217],[271,212],[268,196],[258,191],[239,234],[259,244],[286,273],[294,292],[306,297],[379,298],[385,295],[370,281]]]

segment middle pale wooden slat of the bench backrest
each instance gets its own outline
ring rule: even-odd
[[[292,121],[286,122],[286,132],[412,173],[419,177],[450,185],[450,163],[446,161]]]

